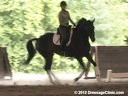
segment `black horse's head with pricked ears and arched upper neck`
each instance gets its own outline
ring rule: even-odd
[[[76,29],[80,32],[80,34],[90,37],[92,42],[95,41],[94,21],[95,19],[91,21],[82,18],[76,26]]]

